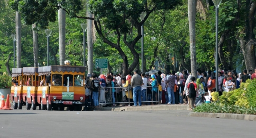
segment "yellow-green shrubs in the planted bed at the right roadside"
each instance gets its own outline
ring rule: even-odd
[[[223,92],[218,103],[202,104],[194,109],[204,113],[256,114],[256,79],[241,83],[239,89]]]

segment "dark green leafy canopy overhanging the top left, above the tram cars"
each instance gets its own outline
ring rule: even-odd
[[[19,11],[27,25],[37,24],[37,29],[46,29],[55,22],[56,11],[64,8],[74,17],[82,10],[82,0],[10,0],[11,8]]]

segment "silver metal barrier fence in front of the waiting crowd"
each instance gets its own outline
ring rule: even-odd
[[[145,87],[145,86],[144,86]],[[154,101],[154,98],[153,96],[156,96],[154,95],[153,91],[151,90],[151,99],[150,101],[148,101],[148,94],[147,94],[147,89],[152,86],[146,86],[146,101],[143,101],[143,99],[141,99],[141,103],[153,103],[153,102],[158,102],[158,105],[160,105],[160,96],[159,96],[159,89],[158,89],[158,86],[155,86],[157,88],[157,92],[155,92],[155,94],[157,93],[157,97],[155,97],[155,99],[158,98],[158,100],[155,100]],[[100,92],[98,94],[98,100],[99,100],[99,106],[106,106],[106,105],[109,105],[109,104],[128,104],[128,106],[130,106],[130,103],[134,103],[134,102],[131,102],[130,99],[133,99],[133,90],[132,90],[133,87],[106,87],[106,88],[100,88]],[[103,91],[101,92],[101,90],[103,89]],[[108,89],[108,92],[105,92],[105,90]],[[112,89],[115,89],[115,92],[112,92]],[[119,91],[119,94],[117,93],[117,89],[121,89]],[[128,97],[126,96],[126,94],[123,95],[123,93],[127,92],[125,90],[125,92],[123,92],[124,89],[127,89],[128,91]],[[130,91],[131,90],[131,91]],[[132,97],[129,97],[130,96],[130,92],[132,93]],[[120,98],[120,93],[122,93],[121,97],[122,97],[122,101],[120,101],[120,99],[118,99],[118,97]],[[142,92],[141,92],[142,93]],[[113,100],[113,97],[112,95],[115,94],[115,96],[117,97],[114,97],[115,100]],[[102,95],[104,95],[104,99],[105,99],[105,102],[104,100],[101,100],[102,99]],[[118,96],[119,95],[119,96]],[[93,92],[91,91],[91,97],[93,97]],[[124,97],[126,97],[127,100],[124,100]],[[162,97],[162,95],[161,95]],[[110,99],[109,99],[110,98]],[[138,98],[142,98],[142,95],[141,96],[137,96],[137,100]],[[93,99],[91,98],[91,103],[93,103]],[[138,103],[138,101],[137,101]],[[95,106],[95,105],[94,105]]]

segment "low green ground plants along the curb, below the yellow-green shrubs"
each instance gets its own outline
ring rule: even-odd
[[[224,105],[219,103],[202,104],[197,106],[194,112],[199,113],[229,113],[229,114],[254,114],[256,115],[256,108],[241,107],[236,105]]]

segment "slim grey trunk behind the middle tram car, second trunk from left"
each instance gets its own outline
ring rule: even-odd
[[[38,66],[38,34],[36,31],[34,31],[34,28],[36,27],[36,24],[32,24],[32,30],[33,30],[33,53],[34,53],[34,66]]]

